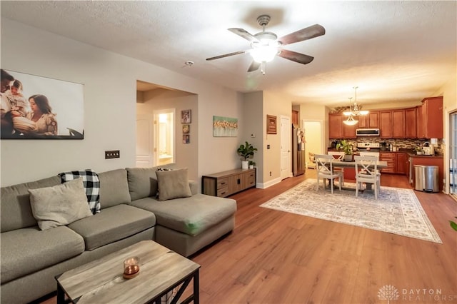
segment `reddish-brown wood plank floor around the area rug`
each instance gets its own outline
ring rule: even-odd
[[[378,298],[386,285],[398,290],[392,304],[457,303],[456,201],[415,191],[443,244],[258,207],[314,177],[231,196],[235,230],[191,257],[201,303],[388,303]],[[383,174],[381,185],[411,188],[405,176]]]

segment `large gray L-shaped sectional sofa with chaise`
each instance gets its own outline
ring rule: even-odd
[[[173,197],[183,181],[158,181],[158,173],[99,173],[100,213],[46,230],[34,218],[29,189],[59,187],[59,176],[1,188],[1,303],[36,300],[56,290],[55,275],[140,240],[189,256],[233,230],[236,201],[200,194],[194,181],[184,197],[161,201],[161,194],[171,191],[166,194]]]

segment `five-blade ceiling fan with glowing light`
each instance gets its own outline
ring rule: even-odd
[[[231,31],[233,34],[237,34],[247,41],[250,41],[251,49],[214,56],[207,58],[206,60],[221,59],[233,55],[249,53],[251,54],[253,61],[251,66],[249,66],[248,72],[256,71],[259,67],[261,67],[263,75],[265,75],[265,63],[273,60],[274,56],[280,56],[284,59],[298,62],[298,64],[309,64],[311,61],[313,61],[314,57],[300,54],[295,51],[288,51],[283,49],[283,46],[322,36],[323,34],[326,34],[326,29],[324,29],[323,26],[314,24],[313,26],[308,26],[304,29],[294,31],[291,34],[282,36],[278,39],[276,34],[272,33],[271,31],[265,31],[265,27],[268,25],[269,21],[270,16],[268,15],[258,16],[257,22],[260,26],[262,26],[262,31],[254,35],[249,34],[248,31],[244,29],[229,29],[229,31]]]

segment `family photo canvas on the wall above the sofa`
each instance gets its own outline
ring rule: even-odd
[[[1,70],[1,139],[84,139],[84,85]]]

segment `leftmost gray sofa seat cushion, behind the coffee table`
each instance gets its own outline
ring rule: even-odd
[[[84,240],[74,230],[38,226],[1,233],[1,283],[55,265],[84,252]]]

